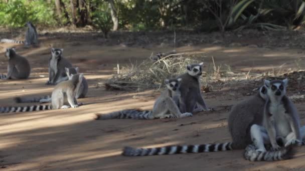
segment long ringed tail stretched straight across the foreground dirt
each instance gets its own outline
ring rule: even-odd
[[[133,148],[126,146],[122,155],[125,156],[145,156],[145,155],[167,155],[179,153],[198,153],[232,150],[231,142],[198,144],[198,145],[169,145],[156,148]]]

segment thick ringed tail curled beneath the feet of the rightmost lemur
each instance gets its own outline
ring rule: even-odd
[[[244,152],[244,157],[250,161],[276,161],[291,159],[293,156],[292,145],[287,147],[282,147],[276,151],[257,151],[257,148],[253,144],[249,144]]]

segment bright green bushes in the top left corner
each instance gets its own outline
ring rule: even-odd
[[[10,0],[0,2],[0,24],[9,27],[22,27],[27,21],[44,25],[56,22],[53,5],[46,0]]]

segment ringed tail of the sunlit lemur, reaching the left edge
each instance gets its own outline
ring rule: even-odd
[[[48,105],[18,106],[18,107],[8,106],[8,107],[0,107],[0,113],[39,111],[39,110],[50,110],[50,109],[52,109],[51,104],[48,104]]]

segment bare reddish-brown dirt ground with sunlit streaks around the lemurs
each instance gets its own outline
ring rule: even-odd
[[[219,33],[176,32],[116,32],[109,39],[101,33],[62,28],[41,31],[37,48],[16,46],[32,65],[30,79],[0,80],[1,106],[16,105],[19,95],[49,94],[53,86],[45,85],[50,46],[64,48],[73,65],[79,66],[89,82],[88,96],[79,99],[79,108],[6,113],[0,115],[0,170],[303,170],[305,149],[297,147],[295,157],[278,162],[249,162],[242,150],[165,156],[124,157],[125,145],[162,146],[230,141],[227,127],[231,105],[255,93],[265,76],[283,77],[286,71],[304,69],[305,50],[302,31],[263,32],[243,30]],[[18,33],[18,32],[17,32]],[[19,35],[17,34],[16,35]],[[9,35],[9,37],[8,37]],[[16,37],[13,34],[14,38]],[[1,37],[11,38],[2,30]],[[20,36],[19,38],[21,38]],[[0,44],[2,51],[14,44]],[[159,92],[107,91],[98,84],[115,74],[120,65],[140,62],[151,52],[173,50],[185,57],[201,56],[204,70],[214,72],[212,56],[220,70],[232,71],[211,81],[213,89],[204,93],[206,103],[214,112],[201,112],[183,119],[157,120],[93,120],[94,112],[110,112],[125,108],[151,109]],[[0,54],[0,73],[5,73],[7,60]],[[290,69],[289,69],[290,68]],[[260,77],[246,77],[248,72]],[[241,75],[237,74],[241,73]],[[266,73],[265,75],[263,73]],[[238,75],[238,76],[236,76]],[[255,75],[255,74],[254,74]],[[44,77],[43,77],[44,76]],[[227,80],[225,79],[227,78]],[[288,95],[304,92],[303,72],[288,73]],[[205,79],[205,77],[203,77]],[[147,96],[147,95],[153,96]],[[133,98],[137,96],[139,98]],[[294,99],[305,124],[305,99]],[[26,105],[26,104],[23,104]]]

